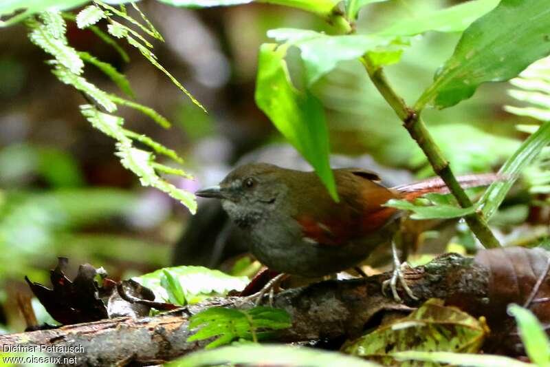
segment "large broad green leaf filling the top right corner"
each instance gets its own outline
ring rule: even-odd
[[[521,50],[521,52],[518,52]],[[470,98],[489,81],[507,81],[550,54],[547,0],[502,0],[463,33],[454,54],[437,72],[415,109],[433,101],[442,109]]]

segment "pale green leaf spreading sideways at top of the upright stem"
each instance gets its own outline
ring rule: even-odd
[[[267,36],[300,49],[304,61],[307,87],[333,70],[340,61],[359,59],[366,52],[397,52],[397,61],[404,42],[394,36],[347,35],[329,36],[312,30],[279,28],[267,32]],[[395,57],[391,59],[395,63]],[[377,65],[380,64],[377,63]]]

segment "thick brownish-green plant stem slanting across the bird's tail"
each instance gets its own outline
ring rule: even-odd
[[[407,129],[410,136],[416,140],[424,154],[426,154],[434,172],[443,179],[456,198],[456,201],[459,202],[459,205],[463,208],[472,207],[472,201],[468,198],[459,182],[456,180],[448,160],[445,159],[430,132],[428,132],[426,124],[420,117],[420,111],[415,111],[408,107],[403,98],[395,93],[388,83],[382,67],[375,68],[369,61],[368,56],[364,56],[361,61],[377,90],[384,96],[388,104],[391,105],[397,116],[399,116],[399,119],[403,121],[404,127]],[[489,226],[487,226],[487,222],[485,218],[483,218],[483,213],[481,213],[481,211],[469,214],[465,216],[464,219],[486,249],[500,247],[500,243],[494,237]]]

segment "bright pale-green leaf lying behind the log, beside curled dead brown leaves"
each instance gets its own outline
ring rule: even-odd
[[[167,274],[172,277],[170,280],[167,279]],[[170,291],[179,293],[178,286],[175,285],[177,282],[183,295],[181,298],[188,303],[200,302],[207,297],[226,295],[232,290],[242,291],[249,282],[247,277],[234,277],[203,266],[163,268],[132,279],[151,289],[156,299],[162,302],[170,302]],[[170,286],[170,291],[167,284]]]

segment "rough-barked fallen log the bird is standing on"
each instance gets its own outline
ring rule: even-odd
[[[543,273],[547,271],[547,251],[516,249],[481,251],[476,258],[445,254],[425,266],[408,269],[405,276],[419,300],[412,300],[403,293],[402,304],[382,294],[382,282],[391,276],[390,273],[353,280],[327,280],[283,291],[274,297],[273,306],[289,313],[292,327],[278,331],[276,340],[304,342],[356,337],[367,326],[376,326],[380,322],[381,317],[377,315],[405,313],[433,297],[445,300],[446,304],[460,306],[472,315],[487,315],[489,327],[496,331],[492,335],[498,337],[498,324],[502,324],[502,317],[507,316],[505,309],[496,310],[494,305],[509,302],[522,304],[529,297],[538,277],[547,275]],[[494,259],[500,259],[498,266],[492,264]],[[507,262],[513,262],[515,266],[511,275],[502,273],[509,271]],[[522,270],[520,262],[525,263],[525,269]],[[522,284],[511,289],[506,283],[508,279],[517,285],[517,277],[523,273],[530,275],[522,277]],[[539,296],[547,297],[549,293],[548,282],[543,282]],[[187,342],[193,333],[188,330],[188,319],[212,306],[245,309],[254,305],[243,302],[240,297],[215,298],[155,317],[122,317],[52,330],[0,335],[0,344],[11,345],[20,351],[23,350],[21,348],[44,350],[61,357],[62,361],[63,358],[76,356],[78,366],[123,366],[131,362],[160,364],[203,348],[208,343]],[[537,313],[537,308],[540,308],[538,316],[543,323],[550,320],[547,307],[534,304],[533,312]],[[498,315],[500,319],[491,317],[489,313]],[[509,330],[506,331],[509,333]],[[55,350],[48,350],[48,347],[55,347]],[[81,353],[75,353],[75,350]]]

